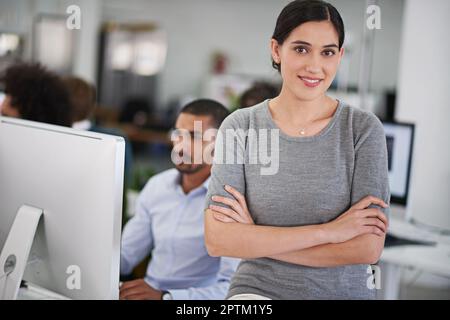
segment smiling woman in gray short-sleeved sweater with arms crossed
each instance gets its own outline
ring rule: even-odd
[[[338,11],[293,1],[271,39],[281,93],[231,114],[206,201],[213,256],[242,258],[232,299],[373,299],[389,202],[383,127],[327,96],[344,54]]]

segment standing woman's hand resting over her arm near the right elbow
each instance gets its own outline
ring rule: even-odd
[[[372,196],[363,198],[335,220],[323,224],[329,241],[341,243],[363,234],[384,236],[387,231],[388,220],[381,210],[368,208],[371,204],[383,208],[388,207],[379,198]]]

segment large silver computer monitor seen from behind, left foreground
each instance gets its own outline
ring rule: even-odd
[[[23,269],[71,299],[118,298],[124,147],[121,137],[0,117],[3,298],[17,297]]]

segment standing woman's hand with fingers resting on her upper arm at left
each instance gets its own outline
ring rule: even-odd
[[[247,208],[245,197],[233,187],[226,185],[224,189],[230,193],[234,199],[213,196],[214,202],[219,202],[227,205],[229,208],[221,206],[210,205],[209,208],[214,211],[214,218],[222,222],[240,222],[245,224],[255,224],[250,212]]]

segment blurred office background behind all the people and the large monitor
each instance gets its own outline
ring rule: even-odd
[[[279,85],[269,40],[288,2],[0,0],[0,72],[37,61],[96,85],[96,123],[133,147],[132,215],[147,179],[172,166],[168,132],[185,103],[210,97],[234,109],[255,82]],[[450,2],[330,2],[346,26],[330,94],[386,126],[394,197],[380,298],[450,299]],[[380,29],[367,27],[370,5]],[[77,8],[80,28],[70,29]]]

